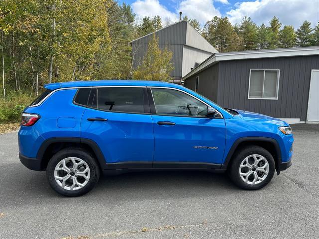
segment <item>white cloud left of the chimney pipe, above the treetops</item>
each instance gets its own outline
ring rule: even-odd
[[[177,20],[177,14],[169,11],[166,7],[161,5],[159,0],[137,0],[132,3],[132,9],[138,18],[159,15],[163,21],[169,19],[172,21]]]

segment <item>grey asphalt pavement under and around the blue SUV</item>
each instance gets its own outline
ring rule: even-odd
[[[102,177],[88,194],[55,193],[0,135],[0,238],[319,238],[319,125],[293,125],[293,165],[244,191],[226,174]]]

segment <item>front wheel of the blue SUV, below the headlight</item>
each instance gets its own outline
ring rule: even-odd
[[[254,165],[256,162],[257,166]],[[255,145],[237,151],[229,168],[231,180],[238,187],[246,190],[265,187],[273,178],[274,173],[273,156],[266,149]]]

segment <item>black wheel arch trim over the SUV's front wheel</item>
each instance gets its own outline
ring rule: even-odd
[[[231,164],[234,153],[248,145],[257,145],[269,151],[275,160],[276,170],[278,170],[278,165],[281,163],[280,147],[276,139],[267,137],[243,137],[237,139],[228,151],[227,157],[225,162],[222,164],[221,169],[227,169]]]

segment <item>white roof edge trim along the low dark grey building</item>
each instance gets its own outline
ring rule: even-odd
[[[212,56],[208,57],[196,68],[194,68],[182,79],[186,80],[187,78],[193,76],[194,74],[199,73],[205,68],[213,64],[216,64],[217,62],[220,62],[220,61],[273,58],[273,57],[307,56],[307,55],[319,55],[319,46],[215,53]]]

